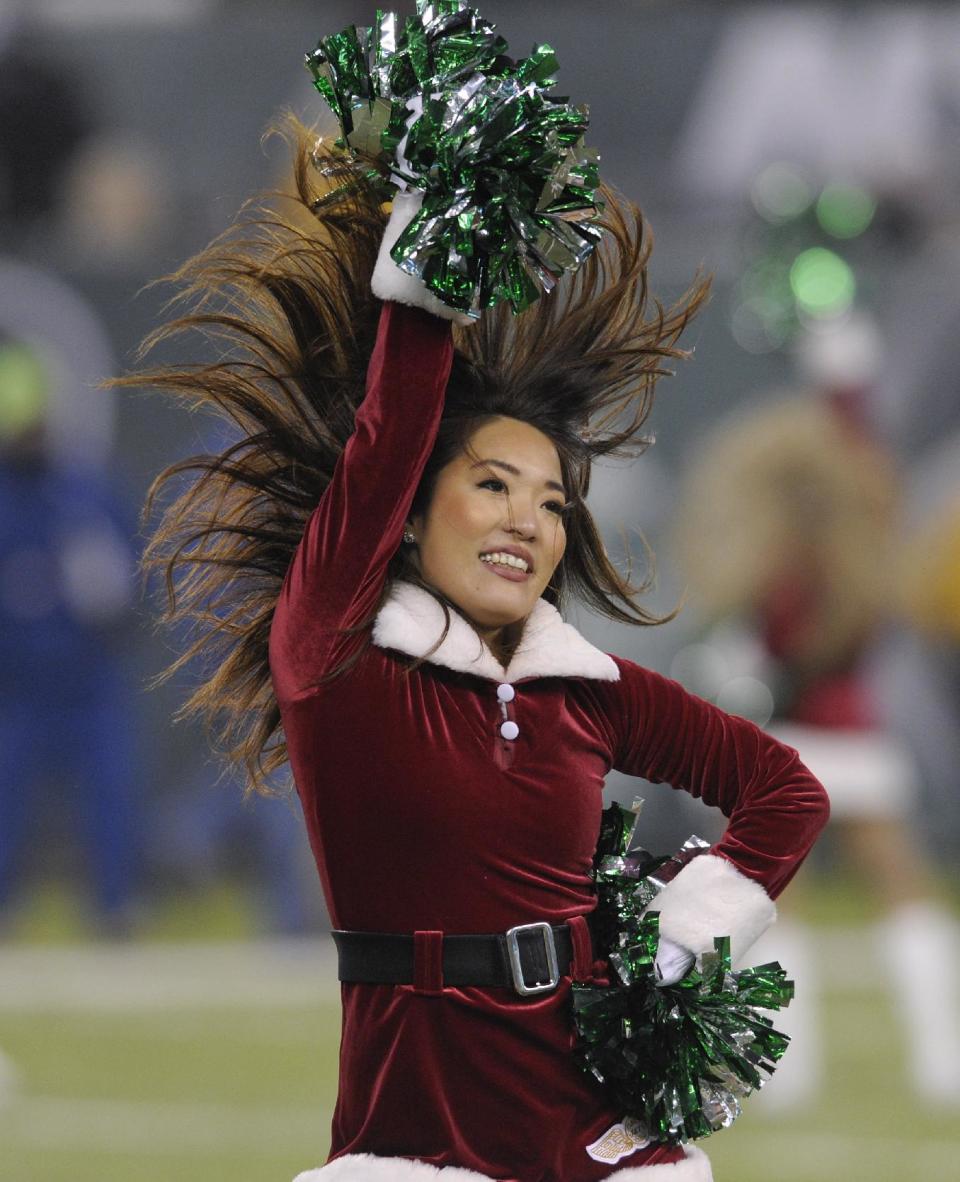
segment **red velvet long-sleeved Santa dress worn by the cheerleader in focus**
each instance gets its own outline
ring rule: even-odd
[[[445,322],[384,305],[356,431],[273,622],[273,681],[333,926],[494,933],[585,915],[610,768],[720,807],[729,825],[713,852],[776,896],[825,813],[796,753],[675,682],[599,654],[544,603],[526,671],[521,661],[489,676],[488,651],[486,674],[465,671],[463,636],[481,645],[458,619],[453,657],[408,674],[403,652],[416,651],[427,626],[414,595],[394,604],[393,624],[349,674],[318,684],[356,647],[343,629],[381,595],[450,359]],[[499,730],[502,680],[515,688],[512,742]],[[586,979],[591,968],[580,953],[573,972]],[[593,1182],[682,1157],[663,1148],[620,1165],[588,1156],[623,1113],[571,1057],[570,978],[530,999],[439,983],[342,987],[331,1158],[402,1156],[515,1182]]]

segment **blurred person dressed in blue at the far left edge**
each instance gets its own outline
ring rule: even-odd
[[[54,375],[41,348],[0,336],[0,922],[18,879],[58,860],[43,821],[67,816],[100,930],[123,935],[140,860],[119,645],[132,528],[109,472],[58,460],[48,446]],[[60,791],[44,818],[52,782]],[[54,836],[63,831],[59,821]]]

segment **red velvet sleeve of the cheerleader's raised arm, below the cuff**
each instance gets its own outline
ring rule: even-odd
[[[343,629],[377,603],[436,437],[450,325],[384,304],[355,430],[306,524],[273,616],[274,690],[288,701],[348,651]]]

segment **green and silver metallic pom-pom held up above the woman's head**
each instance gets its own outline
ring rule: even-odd
[[[547,93],[549,45],[513,61],[460,0],[416,7],[402,26],[378,11],[372,27],[322,38],[306,64],[339,121],[337,147],[370,162],[384,200],[423,193],[394,261],[472,317],[502,300],[520,312],[602,236],[588,110]]]

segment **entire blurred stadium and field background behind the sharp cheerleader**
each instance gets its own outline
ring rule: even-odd
[[[411,11],[413,4],[397,6]],[[797,746],[833,819],[760,959],[794,1045],[719,1182],[947,1177],[960,1149],[960,12],[954,4],[486,0],[549,40],[653,288],[714,293],[655,446],[597,472],[656,554],[597,644]],[[296,799],[241,801],[147,684],[136,564],[166,465],[215,428],[134,365],[144,286],[285,183],[303,69],[372,7],[0,0],[0,1180],[275,1180],[319,1164],[339,1035]],[[161,358],[162,359],[162,358]],[[718,819],[644,798],[655,851]]]

